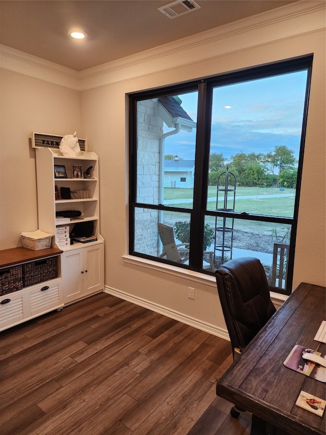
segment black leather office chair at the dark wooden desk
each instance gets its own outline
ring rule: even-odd
[[[228,328],[233,359],[250,343],[276,312],[270,300],[264,268],[256,258],[228,261],[216,272],[216,284]],[[235,407],[232,417],[243,411]]]

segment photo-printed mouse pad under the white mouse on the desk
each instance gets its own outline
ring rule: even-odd
[[[304,353],[314,353],[318,356],[325,356],[316,350],[308,349],[305,346],[296,344],[283,364],[296,372],[303,373],[304,375],[320,380],[321,382],[326,382],[326,367],[321,367],[311,361],[304,360],[302,357]]]

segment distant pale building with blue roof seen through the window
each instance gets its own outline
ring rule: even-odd
[[[164,187],[194,187],[195,160],[165,160]]]

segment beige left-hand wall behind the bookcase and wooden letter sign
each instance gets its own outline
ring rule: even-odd
[[[0,69],[0,249],[21,246],[37,222],[32,132],[82,136],[80,93]]]

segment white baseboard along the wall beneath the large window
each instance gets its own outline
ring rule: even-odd
[[[159,305],[157,303],[151,302],[146,299],[142,299],[134,295],[130,295],[129,293],[125,293],[117,289],[113,289],[112,287],[105,286],[104,292],[111,294],[113,296],[117,296],[123,300],[127,300],[128,302],[132,302],[136,305],[143,306],[148,310],[155,311],[156,313],[170,317],[171,319],[178,320],[179,322],[193,326],[194,328],[201,329],[205,332],[208,332],[209,334],[223,338],[224,340],[230,341],[229,334],[226,329],[219,328],[210,323],[206,323],[201,320],[195,319],[194,317],[190,317],[183,313],[179,313],[177,311],[171,310],[166,306]]]

